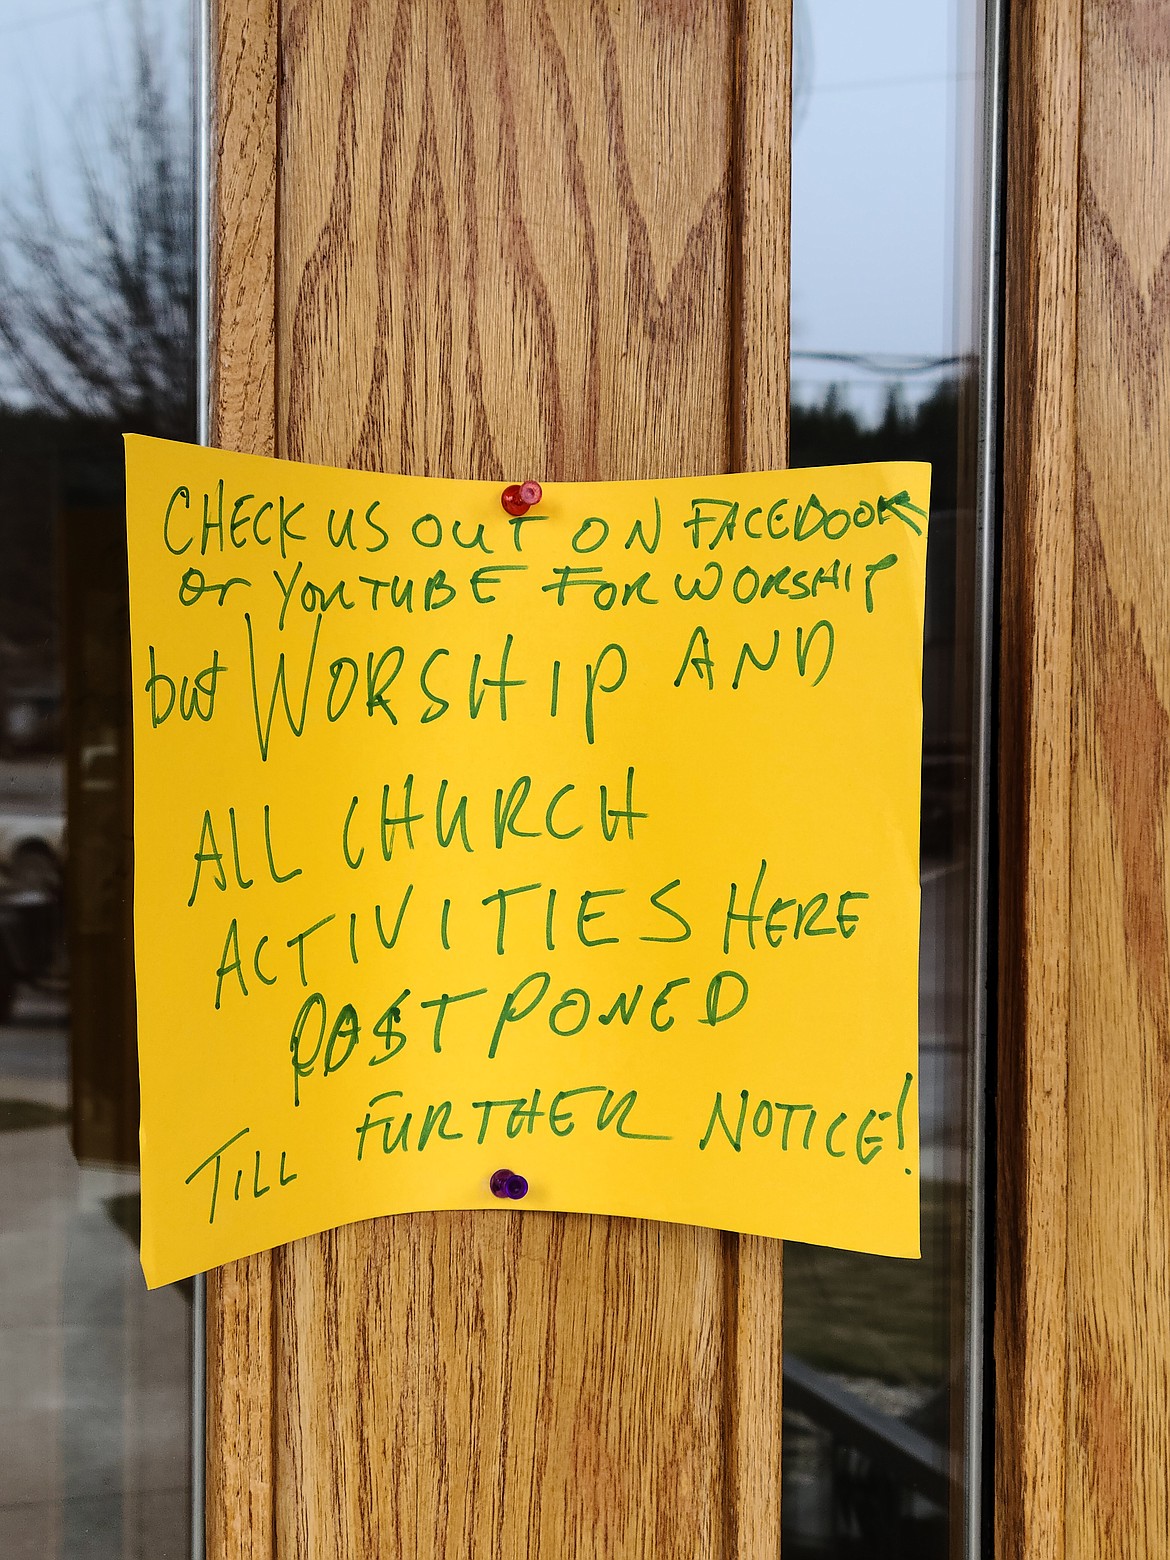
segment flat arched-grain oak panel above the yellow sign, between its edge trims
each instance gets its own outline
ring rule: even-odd
[[[716,5],[290,3],[284,452],[725,466],[735,42]]]

